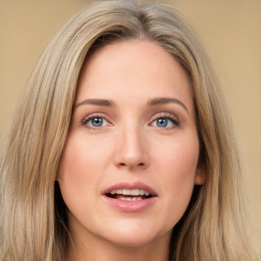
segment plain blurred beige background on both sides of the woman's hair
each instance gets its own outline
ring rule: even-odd
[[[0,138],[49,39],[84,0],[0,0]],[[162,1],[191,20],[215,62],[238,125],[261,252],[261,1]],[[220,123],[222,124],[222,122]]]

